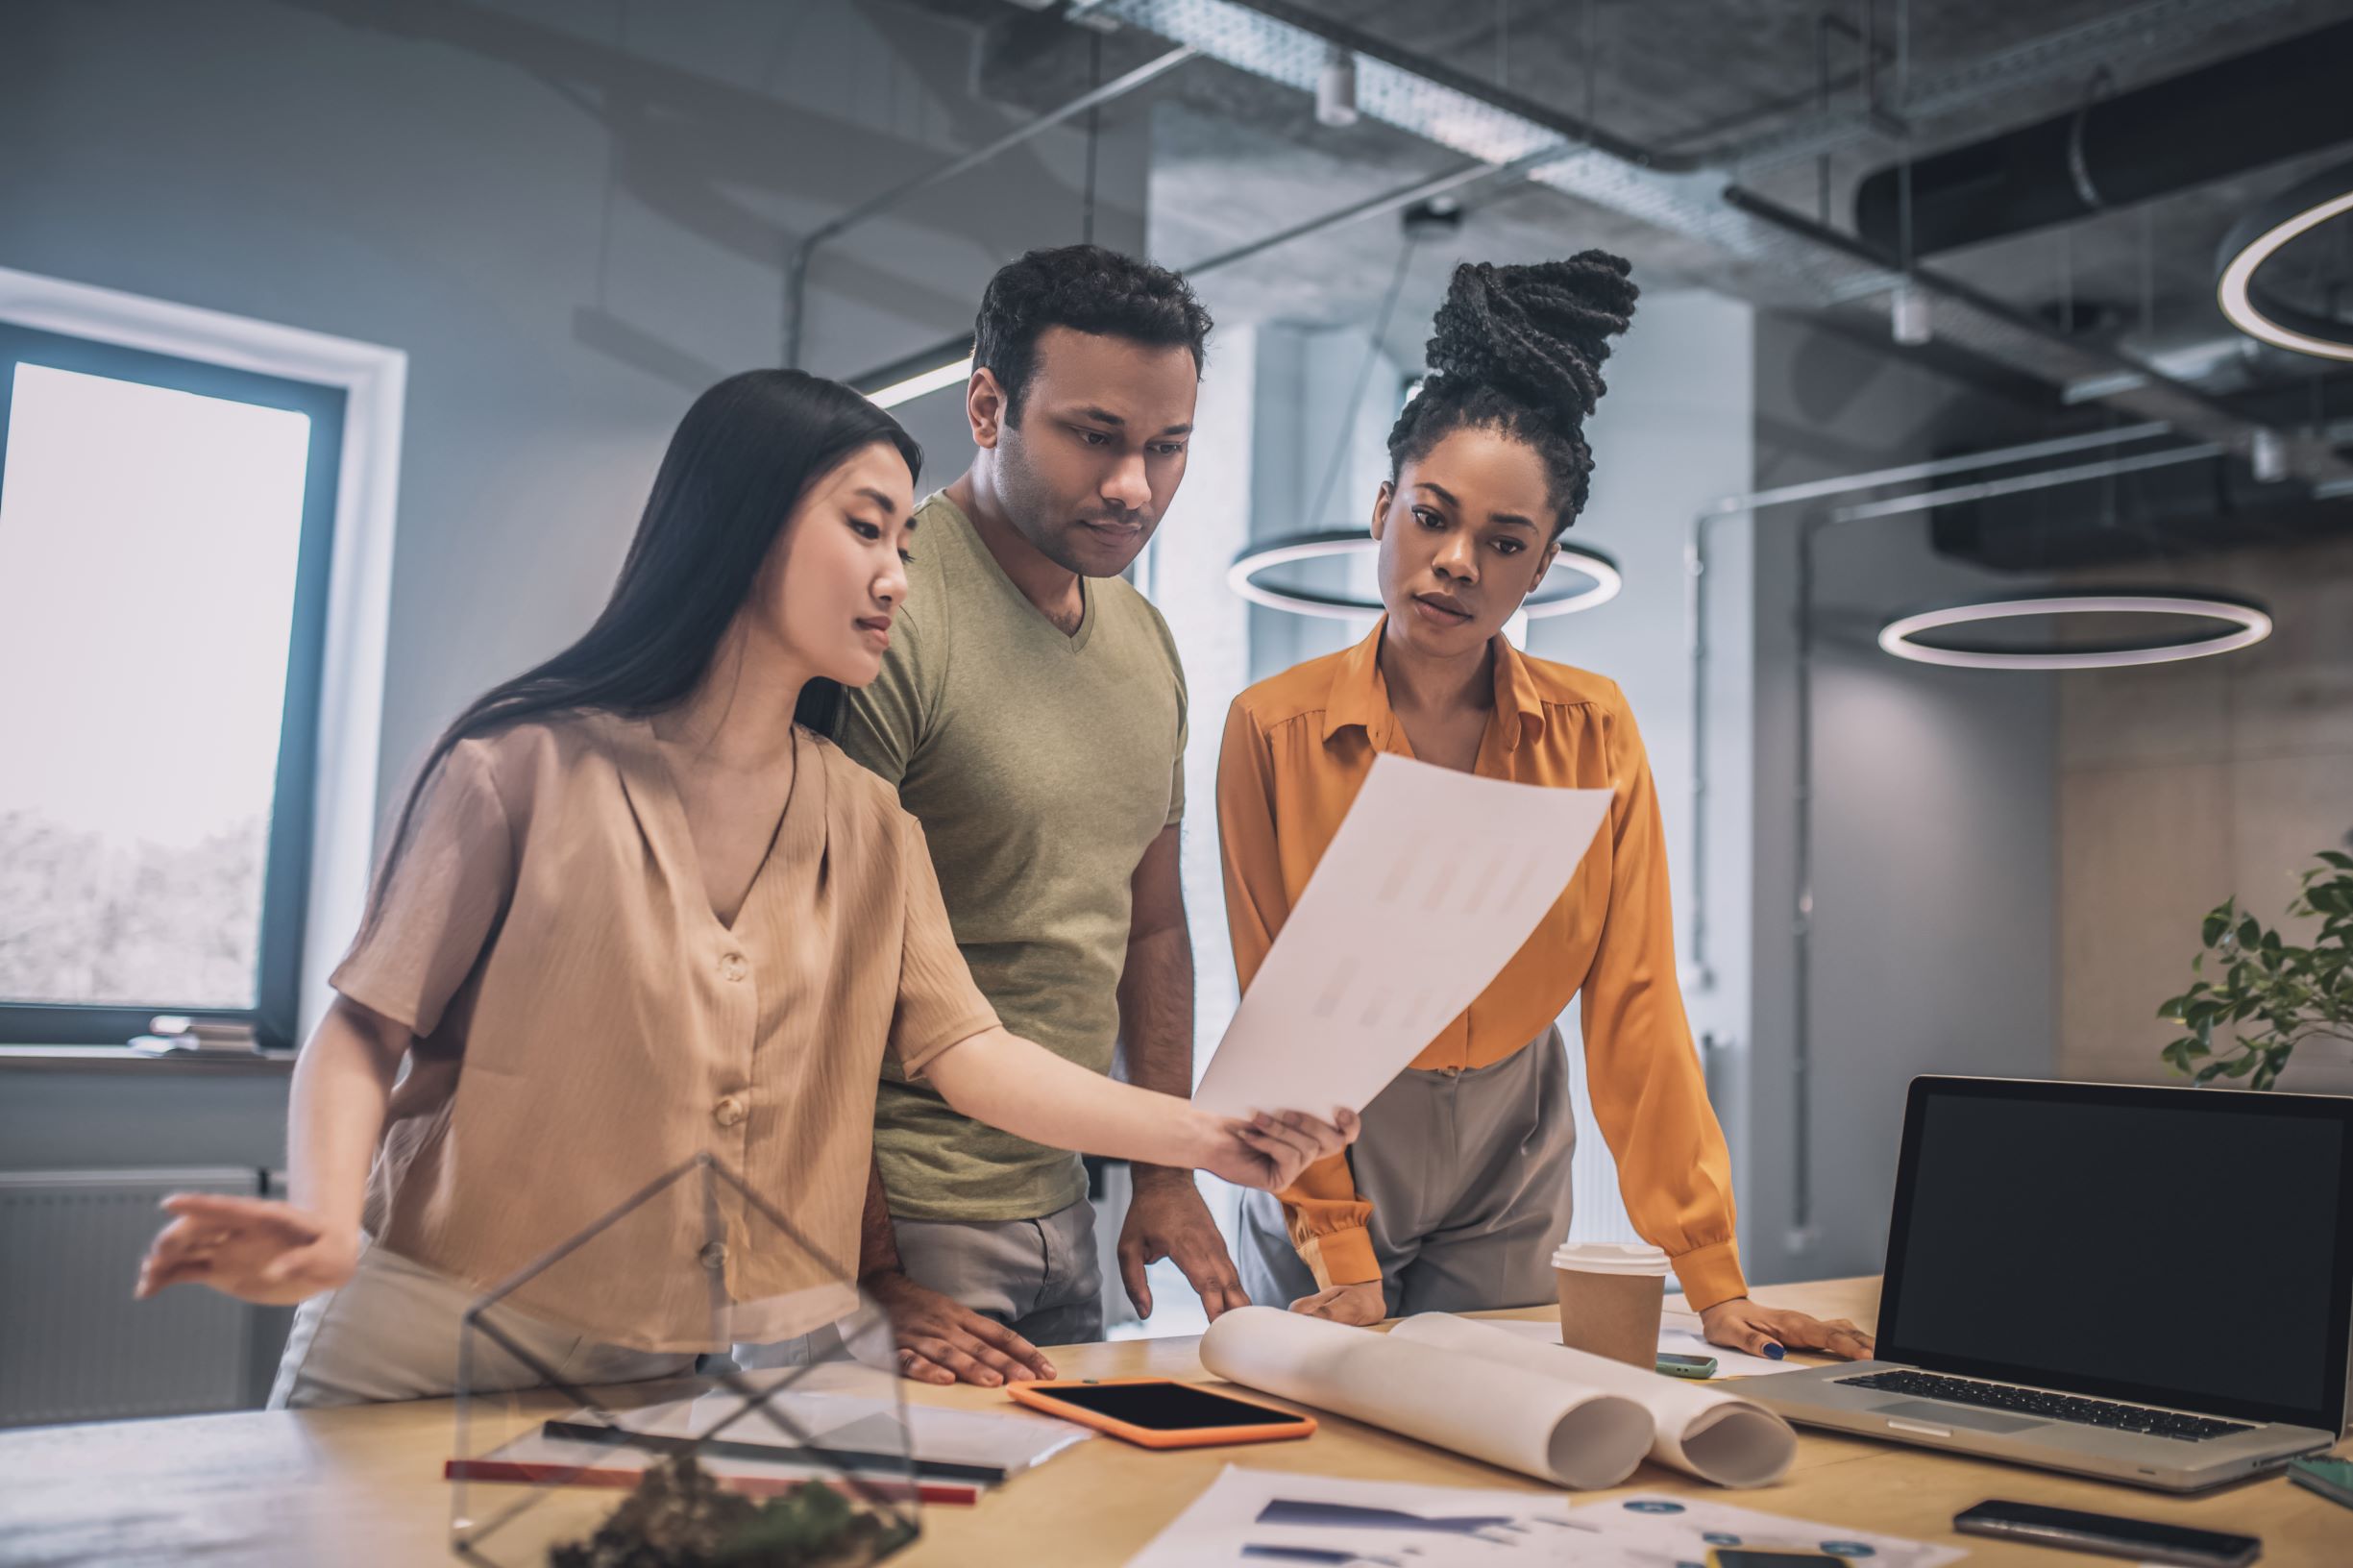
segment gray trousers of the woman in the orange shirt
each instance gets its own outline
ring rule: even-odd
[[[1365,1107],[1365,1130],[1348,1149],[1355,1191],[1372,1203],[1388,1316],[1553,1300],[1574,1149],[1558,1026],[1492,1067],[1398,1074]],[[1242,1194],[1238,1243],[1252,1302],[1289,1307],[1315,1295],[1275,1194]]]

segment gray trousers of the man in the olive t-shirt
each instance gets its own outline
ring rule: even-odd
[[[1104,1337],[1104,1267],[1094,1205],[1080,1198],[1045,1220],[894,1220],[899,1267],[1031,1344]]]

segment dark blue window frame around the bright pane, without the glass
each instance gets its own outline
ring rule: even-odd
[[[0,1043],[122,1045],[132,1036],[146,1034],[153,1017],[184,1012],[198,1019],[245,1022],[252,1024],[254,1038],[264,1048],[292,1048],[301,1029],[304,937],[311,918],[311,859],[318,817],[320,702],[325,692],[336,511],[344,480],[344,426],[351,412],[351,396],[344,386],[238,370],[188,356],[0,320],[0,487],[7,483],[7,433],[16,396],[16,365],[24,363],[301,412],[311,419],[311,445],[304,461],[285,706],[280,711],[278,768],[271,789],[271,826],[261,873],[254,1005],[195,1008],[172,1001],[120,1005],[0,998]]]

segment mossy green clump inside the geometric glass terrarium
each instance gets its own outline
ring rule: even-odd
[[[913,1537],[819,1481],[753,1502],[678,1455],[647,1467],[593,1537],[551,1547],[548,1568],[864,1568]]]

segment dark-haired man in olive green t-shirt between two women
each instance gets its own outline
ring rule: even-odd
[[[922,822],[972,977],[1014,1034],[1193,1092],[1193,954],[1176,876],[1186,695],[1120,572],[1184,478],[1209,315],[1092,245],[1005,266],[981,299],[969,471],[918,511],[908,603],[840,744]],[[1049,1377],[1101,1337],[1078,1156],[958,1116],[885,1071],[861,1283],[918,1377]],[[887,1212],[882,1205],[887,1201]],[[1188,1170],[1136,1170],[1120,1271],[1174,1257],[1212,1316],[1245,1304]]]

